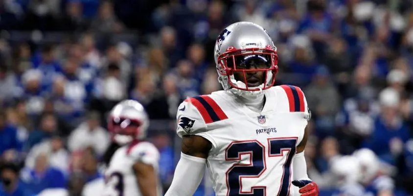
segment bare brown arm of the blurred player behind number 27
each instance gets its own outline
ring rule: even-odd
[[[153,166],[137,162],[133,165],[138,187],[142,196],[157,196],[158,183],[157,174]]]

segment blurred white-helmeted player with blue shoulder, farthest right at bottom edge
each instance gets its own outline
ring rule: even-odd
[[[368,148],[358,149],[353,155],[361,164],[360,182],[366,188],[366,196],[392,196],[394,181],[380,172],[380,160]]]

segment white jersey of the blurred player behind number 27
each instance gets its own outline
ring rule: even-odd
[[[159,151],[153,144],[139,142],[117,149],[105,172],[103,196],[141,196],[133,170],[133,165],[138,161],[152,165],[158,173]],[[161,196],[160,186],[158,190]]]

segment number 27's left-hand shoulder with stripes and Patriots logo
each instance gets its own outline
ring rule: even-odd
[[[205,132],[207,124],[228,119],[221,107],[209,96],[187,98],[178,107],[177,133],[180,137]]]

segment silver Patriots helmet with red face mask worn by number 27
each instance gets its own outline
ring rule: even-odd
[[[215,42],[214,58],[218,72],[218,81],[224,90],[231,88],[243,91],[260,91],[272,87],[275,83],[277,67],[277,49],[268,32],[260,25],[250,22],[238,22],[226,27]],[[251,70],[240,65],[248,61],[263,61],[267,67]],[[246,73],[263,71],[265,81],[258,87],[248,87]],[[233,73],[243,74],[243,81],[236,81]]]

